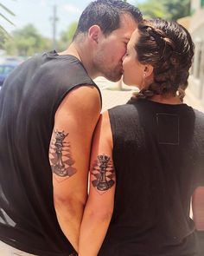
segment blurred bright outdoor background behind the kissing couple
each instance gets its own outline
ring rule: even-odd
[[[29,56],[67,49],[82,10],[89,0],[0,0],[0,86],[7,75]],[[145,18],[161,17],[182,23],[195,43],[188,101],[204,109],[204,0],[128,0]],[[101,88],[107,82],[98,79]],[[109,83],[123,90],[122,82]]]

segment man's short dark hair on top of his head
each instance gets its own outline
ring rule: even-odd
[[[99,25],[105,36],[120,26],[120,15],[128,14],[137,23],[143,20],[137,7],[121,0],[97,0],[90,3],[80,16],[73,40],[81,33],[86,33],[92,25]]]

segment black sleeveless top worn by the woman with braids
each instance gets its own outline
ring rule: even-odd
[[[99,255],[196,255],[189,207],[204,186],[204,115],[147,100],[109,115],[117,187]]]

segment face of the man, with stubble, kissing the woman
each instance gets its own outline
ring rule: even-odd
[[[117,82],[123,75],[123,56],[131,34],[137,23],[129,15],[120,16],[120,27],[108,36],[102,35],[95,52],[93,64],[99,74],[112,82]]]

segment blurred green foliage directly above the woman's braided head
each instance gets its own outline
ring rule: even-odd
[[[190,0],[146,0],[137,6],[144,18],[165,18],[177,20],[190,15]]]

